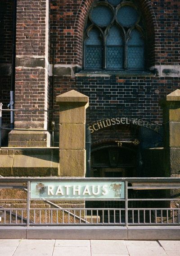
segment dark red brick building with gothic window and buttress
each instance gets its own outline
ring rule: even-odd
[[[56,96],[75,89],[90,102],[88,176],[178,176],[180,144],[166,142],[161,103],[179,89],[178,4],[1,0],[0,102],[22,110],[11,116],[11,126],[27,129],[11,131],[9,141],[3,130],[3,145],[46,147],[49,157],[59,141],[57,131],[53,141],[46,131],[58,130]],[[10,127],[9,112],[2,123]]]

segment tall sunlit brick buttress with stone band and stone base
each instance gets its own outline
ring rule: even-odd
[[[14,127],[41,131],[12,131],[11,147],[49,146],[48,109],[49,0],[17,0]]]

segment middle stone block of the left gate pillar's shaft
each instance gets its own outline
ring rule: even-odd
[[[60,149],[85,149],[84,124],[62,124],[59,133]]]

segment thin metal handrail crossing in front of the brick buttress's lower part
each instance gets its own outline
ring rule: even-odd
[[[52,129],[22,129],[22,128],[6,128],[2,126],[2,113],[3,112],[43,112],[43,113],[54,113],[54,112],[58,112],[57,110],[43,110],[43,109],[3,109],[2,108],[3,104],[0,102],[0,148],[1,148],[1,144],[2,144],[2,130],[7,130],[7,131],[11,131],[11,130],[18,130],[18,131],[49,131],[52,134],[52,146],[54,146],[54,132],[58,132],[59,130],[54,129],[54,126],[52,126]]]

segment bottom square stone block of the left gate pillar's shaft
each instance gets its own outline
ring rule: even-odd
[[[59,176],[85,177],[85,150],[59,150]]]

